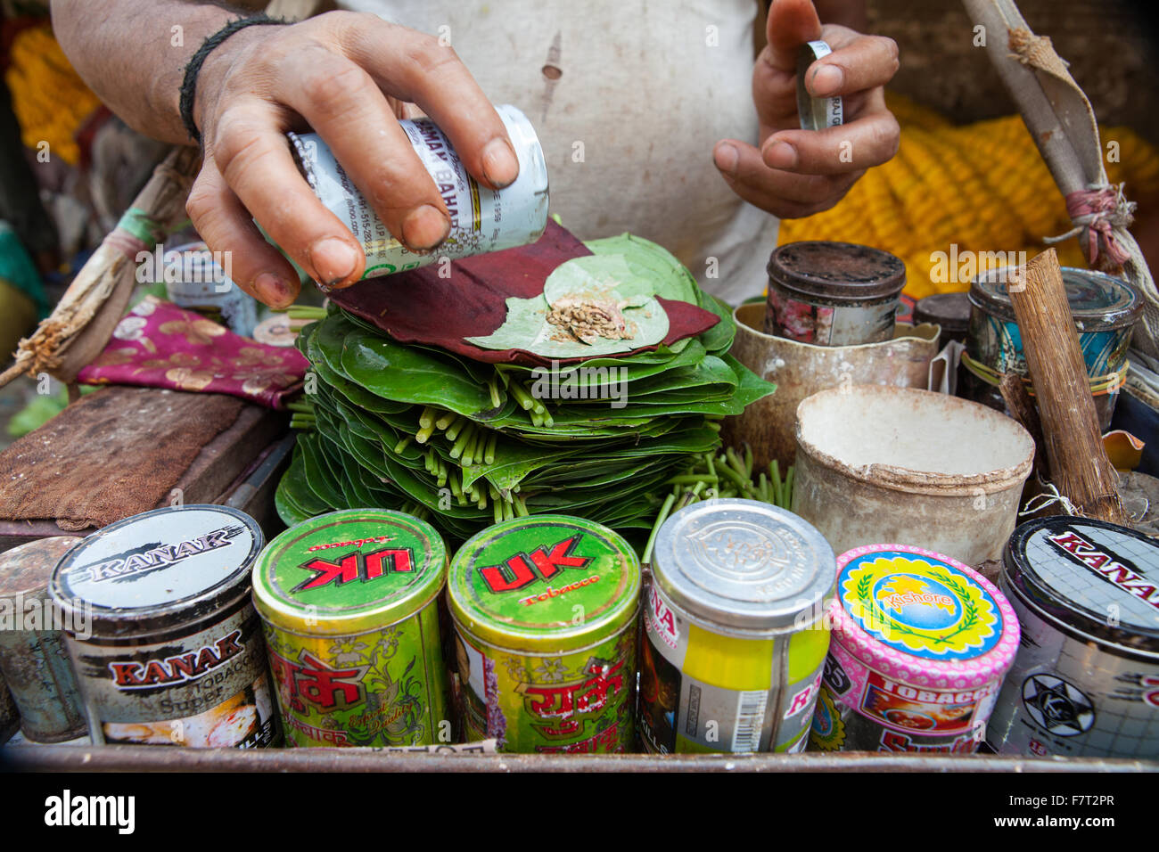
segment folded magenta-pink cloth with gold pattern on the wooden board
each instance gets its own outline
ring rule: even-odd
[[[147,296],[78,374],[86,385],[138,385],[225,393],[282,408],[309,362],[293,348],[242,337],[192,311]]]

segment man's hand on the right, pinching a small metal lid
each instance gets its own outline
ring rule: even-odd
[[[766,27],[768,43],[752,72],[760,148],[726,139],[716,144],[713,160],[746,202],[797,219],[833,206],[866,169],[897,153],[899,129],[884,93],[898,68],[897,44],[846,27],[822,27],[811,0],[774,0]],[[833,52],[809,66],[806,86],[815,97],[840,95],[845,124],[800,130],[797,51],[817,38]]]

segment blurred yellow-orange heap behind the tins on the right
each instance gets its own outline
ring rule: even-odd
[[[902,125],[897,156],[869,169],[832,210],[781,223],[780,243],[799,240],[860,242],[905,261],[905,292],[916,299],[969,289],[968,282],[931,281],[934,252],[1026,252],[1047,248],[1043,236],[1071,230],[1066,205],[1019,116],[955,126],[899,95],[887,96]],[[1107,162],[1127,197],[1159,201],[1159,155],[1127,128],[1102,128]],[[854,156],[857,152],[854,152]],[[1087,265],[1077,238],[1055,246],[1063,265]],[[981,260],[981,258],[979,258]],[[990,265],[985,264],[984,265]]]

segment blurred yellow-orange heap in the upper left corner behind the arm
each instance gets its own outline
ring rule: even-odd
[[[24,145],[38,151],[46,141],[50,158],[75,165],[80,151],[73,134],[101,101],[70,65],[48,23],[16,34],[5,80]]]

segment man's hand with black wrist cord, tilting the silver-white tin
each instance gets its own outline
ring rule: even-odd
[[[353,284],[358,240],[299,174],[285,131],[318,132],[408,248],[427,250],[451,220],[398,116],[417,104],[446,132],[467,170],[497,189],[519,163],[506,131],[454,51],[374,15],[335,12],[287,27],[249,27],[210,53],[194,116],[205,161],[187,209],[213,250],[232,252],[243,290],[274,307],[298,294],[298,276],[257,221],[315,281]]]

